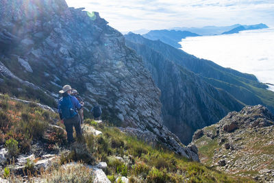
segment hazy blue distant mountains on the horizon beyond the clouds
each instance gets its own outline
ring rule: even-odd
[[[151,30],[147,34],[142,34],[145,38],[150,40],[161,40],[162,42],[171,45],[175,48],[181,48],[179,45],[182,39],[190,36],[211,36],[211,35],[220,35],[220,34],[235,34],[242,30],[250,29],[264,29],[268,28],[267,25],[260,23],[257,25],[231,25],[226,27],[216,27],[216,26],[207,26],[207,27],[175,27],[174,29],[162,29],[162,30]],[[135,32],[138,34],[138,32]]]

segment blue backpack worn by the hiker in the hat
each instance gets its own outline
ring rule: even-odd
[[[64,119],[71,119],[77,114],[73,108],[71,97],[63,97],[60,99],[60,109]]]

